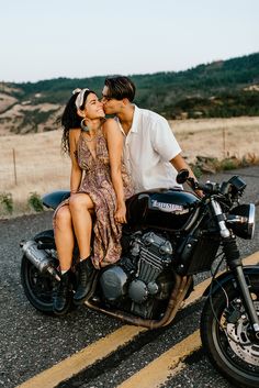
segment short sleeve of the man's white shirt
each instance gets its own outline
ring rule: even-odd
[[[159,118],[154,123],[154,148],[162,160],[169,162],[181,152],[181,147],[176,140],[171,128],[164,118]]]

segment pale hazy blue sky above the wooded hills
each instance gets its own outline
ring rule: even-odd
[[[0,81],[178,71],[259,52],[259,0],[0,4]]]

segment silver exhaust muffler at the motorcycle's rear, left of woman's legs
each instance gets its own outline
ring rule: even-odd
[[[60,281],[60,277],[56,268],[52,265],[48,254],[44,250],[38,250],[37,243],[34,240],[21,242],[20,246],[27,259],[40,270],[40,273],[48,273]]]

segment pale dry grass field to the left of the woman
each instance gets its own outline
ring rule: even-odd
[[[0,136],[0,192],[11,192],[22,211],[29,211],[24,202],[31,192],[69,188],[70,159],[61,154],[60,136],[60,131]]]

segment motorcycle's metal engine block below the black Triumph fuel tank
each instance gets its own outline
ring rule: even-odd
[[[154,232],[136,233],[127,256],[104,269],[100,277],[105,300],[117,304],[127,299],[133,313],[149,318],[155,301],[169,297],[173,276],[166,269],[172,262],[172,244],[165,236]]]

